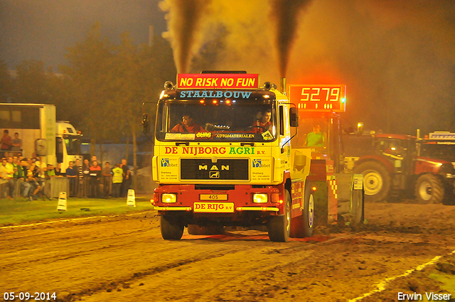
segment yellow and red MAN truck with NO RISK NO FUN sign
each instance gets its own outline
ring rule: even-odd
[[[149,132],[147,113],[143,126]],[[184,227],[216,234],[257,225],[275,242],[310,237],[317,185],[309,181],[312,149],[291,147],[298,126],[298,106],[270,82],[259,87],[257,74],[179,74],[176,85],[166,82],[152,163],[162,237],[181,239]]]

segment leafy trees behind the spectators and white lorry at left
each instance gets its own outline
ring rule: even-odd
[[[100,29],[95,23],[82,41],[67,48],[68,64],[58,72],[27,60],[11,75],[0,60],[0,102],[55,104],[57,119],[90,137],[92,154],[102,141],[132,139],[136,167],[141,104],[156,103],[164,82],[176,79],[172,49],[159,36],[151,45],[135,45],[128,32],[116,45]]]

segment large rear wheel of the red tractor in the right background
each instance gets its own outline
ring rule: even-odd
[[[354,173],[363,174],[365,200],[385,200],[390,194],[390,174],[381,163],[365,161],[354,168]]]

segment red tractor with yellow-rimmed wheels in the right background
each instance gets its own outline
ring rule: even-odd
[[[429,141],[401,134],[376,134],[374,151],[361,156],[354,173],[363,174],[365,200],[415,196],[419,203],[451,203],[455,168],[427,152]]]

